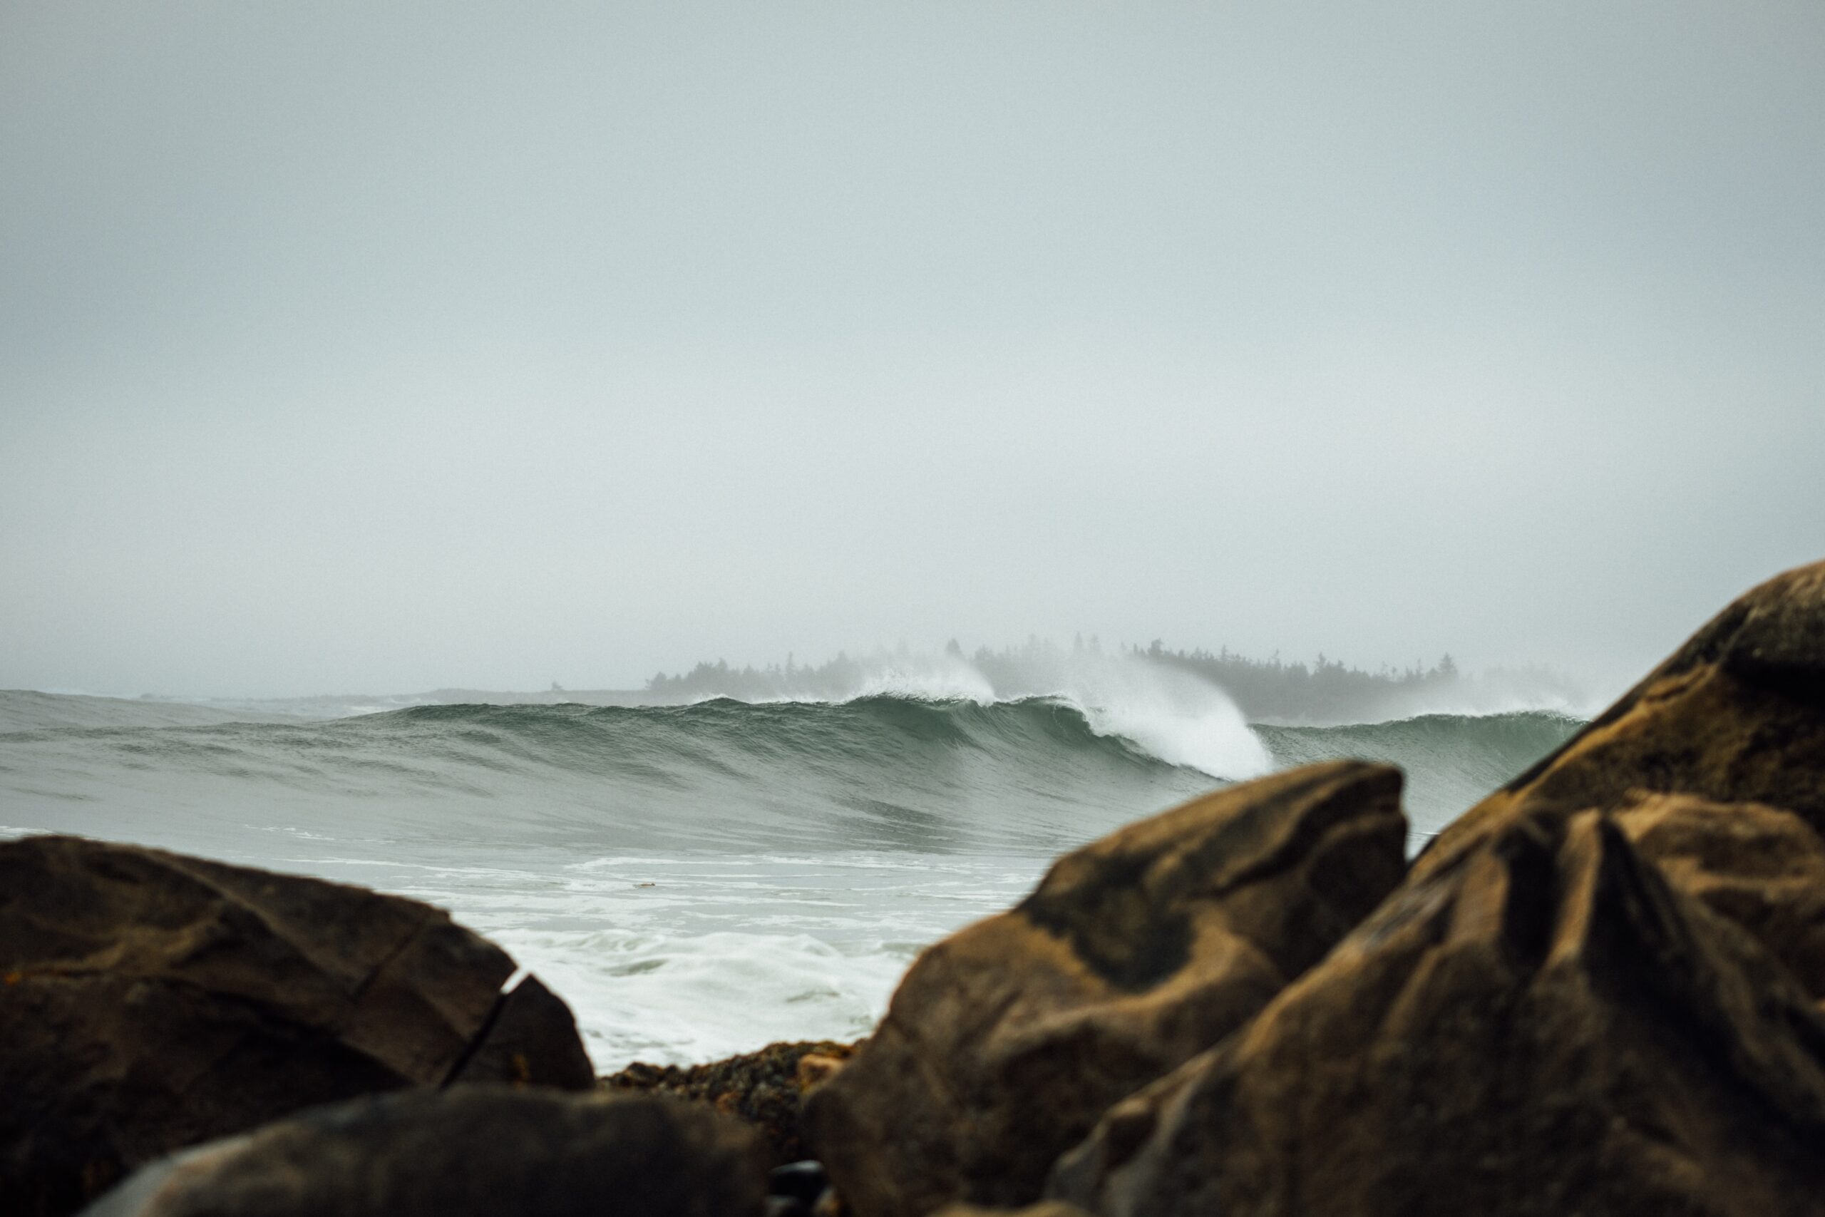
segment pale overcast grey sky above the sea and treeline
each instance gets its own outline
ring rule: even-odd
[[[0,0],[0,686],[1626,679],[1825,556],[1821,66],[1816,0]]]

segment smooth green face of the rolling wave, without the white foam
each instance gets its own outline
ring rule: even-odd
[[[1424,836],[1577,726],[1533,712],[1252,730],[1276,768],[1400,765]],[[451,845],[1055,854],[1221,777],[1044,697],[420,706],[327,723],[0,732],[0,827],[206,845],[217,827],[283,819]]]

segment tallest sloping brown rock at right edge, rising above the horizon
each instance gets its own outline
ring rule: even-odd
[[[1747,591],[1555,754],[1449,825],[1414,870],[1520,816],[1639,792],[1763,803],[1825,832],[1825,562]]]

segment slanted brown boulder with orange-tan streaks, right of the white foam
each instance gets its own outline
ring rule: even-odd
[[[1336,761],[1232,786],[1053,865],[925,951],[805,1104],[860,1217],[1038,1197],[1104,1108],[1312,967],[1405,870],[1400,772]]]

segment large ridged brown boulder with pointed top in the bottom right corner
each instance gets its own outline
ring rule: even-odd
[[[1825,1018],[1601,814],[1403,885],[1259,1018],[1117,1104],[1100,1217],[1818,1213]]]

